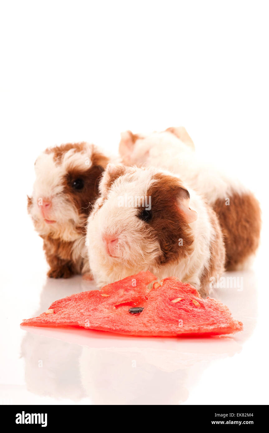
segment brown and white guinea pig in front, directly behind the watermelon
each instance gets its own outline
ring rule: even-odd
[[[112,164],[100,193],[87,229],[97,285],[149,270],[208,294],[225,249],[217,216],[199,194],[169,172]]]

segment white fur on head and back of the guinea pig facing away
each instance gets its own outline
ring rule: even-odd
[[[230,197],[233,191],[241,194],[246,188],[217,167],[201,161],[188,142],[172,132],[153,132],[130,145],[130,132],[122,134],[120,152],[128,165],[158,167],[180,176],[191,188],[203,194],[209,204],[218,198]]]

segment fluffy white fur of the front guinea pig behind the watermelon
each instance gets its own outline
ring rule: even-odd
[[[209,246],[214,237],[214,230],[202,197],[185,185],[191,196],[190,207],[198,213],[198,219],[189,224],[195,239],[194,252],[178,263],[161,266],[156,265],[156,257],[160,254],[159,242],[156,239],[148,239],[147,225],[137,218],[136,208],[118,206],[118,197],[126,193],[128,196],[146,195],[154,182],[152,176],[158,172],[155,168],[126,169],[126,174],[118,177],[108,190],[104,185],[107,178],[113,175],[113,168],[109,165],[104,172],[103,180],[100,182],[103,197],[97,200],[94,212],[88,218],[87,231],[91,271],[98,286],[139,271],[149,270],[158,278],[175,276],[200,288],[201,274],[208,265]],[[104,234],[119,239],[116,246],[118,257],[110,257],[107,254],[102,240]]]

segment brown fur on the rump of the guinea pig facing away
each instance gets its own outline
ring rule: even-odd
[[[224,235],[227,270],[233,270],[255,253],[259,246],[261,211],[253,194],[233,193],[230,205],[217,199],[213,209],[217,213]]]

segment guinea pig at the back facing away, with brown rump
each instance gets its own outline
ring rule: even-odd
[[[249,265],[259,246],[259,202],[237,179],[220,171],[217,164],[197,158],[185,128],[169,128],[147,136],[123,132],[119,151],[124,164],[164,168],[202,194],[217,213],[223,231],[225,268]]]

